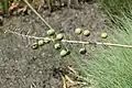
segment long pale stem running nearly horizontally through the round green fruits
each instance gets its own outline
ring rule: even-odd
[[[28,38],[34,38],[34,40],[44,40],[44,37],[37,37],[37,36],[30,36],[30,35],[24,35],[24,34],[20,34],[18,32],[12,32],[12,31],[6,31],[4,33],[12,33],[22,37],[28,37]],[[55,41],[54,38],[50,38],[50,41]],[[124,47],[124,48],[132,48],[132,45],[122,45],[122,44],[113,44],[113,43],[101,43],[101,42],[82,42],[82,41],[68,41],[68,40],[62,40],[63,43],[73,43],[73,44],[96,44],[96,45],[106,45],[106,46],[116,46],[116,47]]]

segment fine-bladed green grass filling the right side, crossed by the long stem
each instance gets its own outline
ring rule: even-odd
[[[132,1],[101,0],[101,7],[114,24],[109,42],[131,45]],[[92,84],[92,88],[132,88],[132,50],[103,46],[95,50],[96,52],[91,52],[92,59],[73,56],[84,78]]]

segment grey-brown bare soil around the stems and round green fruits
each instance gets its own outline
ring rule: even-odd
[[[43,8],[38,13],[57,31],[65,31],[72,40],[75,28],[91,31],[91,40],[98,40],[105,31],[105,15],[96,2],[84,3],[81,9],[62,8],[50,12]],[[62,58],[53,45],[32,50],[35,40],[30,40],[6,31],[24,35],[46,36],[48,28],[33,13],[4,19],[0,26],[0,88],[63,88],[57,68],[73,64],[72,58]]]

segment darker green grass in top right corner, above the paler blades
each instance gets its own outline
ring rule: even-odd
[[[132,19],[132,0],[99,0],[102,10],[108,14],[114,26],[128,31],[124,25],[125,16]],[[124,16],[125,15],[125,16]]]

